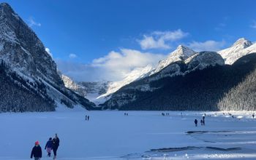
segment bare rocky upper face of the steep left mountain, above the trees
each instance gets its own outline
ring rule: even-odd
[[[56,63],[45,47],[9,4],[0,4],[0,57],[15,71],[64,86]]]

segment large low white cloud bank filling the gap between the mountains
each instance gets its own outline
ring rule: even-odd
[[[56,60],[58,68],[76,81],[120,81],[131,71],[157,65],[165,55],[140,52],[133,49],[121,49],[120,52],[109,52],[89,65]]]

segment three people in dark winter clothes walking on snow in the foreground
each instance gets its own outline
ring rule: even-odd
[[[55,134],[55,137],[52,139],[49,138],[48,142],[45,145],[45,150],[48,153],[48,156],[50,157],[51,151],[53,150],[53,159],[57,158],[57,150],[59,148],[59,137],[57,134]],[[34,148],[31,151],[30,158],[32,159],[34,157],[34,160],[39,160],[42,158],[42,148],[39,145],[39,141],[34,143]]]

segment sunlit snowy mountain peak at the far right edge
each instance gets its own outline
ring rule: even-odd
[[[238,39],[231,47],[222,49],[218,53],[222,55],[225,64],[232,65],[240,57],[256,52],[256,44],[252,44],[244,38]]]

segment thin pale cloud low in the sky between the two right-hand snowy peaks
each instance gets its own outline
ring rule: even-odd
[[[218,51],[225,46],[225,41],[192,41],[189,43],[188,47],[194,49],[197,52],[200,51]]]

